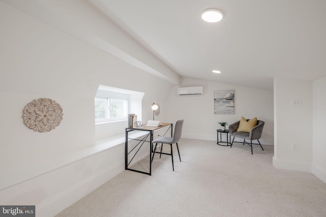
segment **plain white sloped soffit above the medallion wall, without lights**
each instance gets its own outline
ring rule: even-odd
[[[107,16],[93,7],[99,1],[80,0],[1,0],[43,20],[63,32],[123,59],[130,65],[168,82],[179,83],[180,76],[162,63]],[[105,10],[105,7],[98,6]],[[9,23],[10,24],[10,23]]]

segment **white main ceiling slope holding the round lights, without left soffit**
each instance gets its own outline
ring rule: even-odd
[[[324,0],[89,2],[183,77],[273,89],[273,77],[326,76]],[[201,20],[208,8],[224,19]]]

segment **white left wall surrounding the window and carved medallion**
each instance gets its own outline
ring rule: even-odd
[[[37,216],[53,216],[124,169],[124,139],[95,145],[98,85],[145,92],[147,121],[152,102],[166,119],[172,84],[3,1],[0,28],[0,204],[34,204]],[[39,98],[63,108],[60,126],[47,133],[22,121],[24,106]]]

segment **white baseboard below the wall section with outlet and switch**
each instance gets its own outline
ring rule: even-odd
[[[277,159],[275,156],[273,156],[273,166],[277,169],[312,173],[311,163],[280,160],[280,159]]]

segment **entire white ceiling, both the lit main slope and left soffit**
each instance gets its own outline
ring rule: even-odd
[[[273,89],[274,77],[326,76],[325,0],[2,1],[175,84]],[[209,8],[224,18],[203,21]]]

